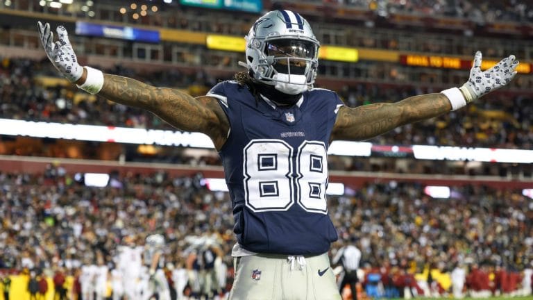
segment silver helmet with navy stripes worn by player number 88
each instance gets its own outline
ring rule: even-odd
[[[312,88],[320,44],[301,15],[290,10],[267,12],[245,39],[246,67],[257,81],[286,94]]]

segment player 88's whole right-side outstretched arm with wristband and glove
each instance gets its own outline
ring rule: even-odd
[[[461,88],[409,97],[396,103],[375,103],[339,110],[332,140],[368,140],[409,123],[437,117],[457,110],[493,90],[501,88],[516,75],[518,60],[504,58],[487,71],[481,71],[481,52],[474,58],[470,78]]]

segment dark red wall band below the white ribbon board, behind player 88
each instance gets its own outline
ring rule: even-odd
[[[47,165],[60,166],[67,174],[76,173],[138,173],[167,172],[170,176],[194,176],[201,172],[205,178],[223,178],[222,167],[190,166],[166,163],[121,163],[105,160],[76,160],[69,158],[36,158],[28,156],[0,156],[0,172],[22,170],[28,174],[42,174]],[[532,177],[467,176],[441,174],[398,174],[387,172],[330,171],[330,182],[361,187],[366,183],[389,181],[414,182],[427,185],[489,185],[493,188],[531,188]]]

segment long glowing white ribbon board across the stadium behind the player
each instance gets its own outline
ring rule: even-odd
[[[31,122],[0,119],[0,135],[53,138],[87,142],[117,142],[126,144],[155,144],[214,149],[210,138],[203,133],[160,129]],[[392,153],[392,154],[391,154]],[[330,144],[328,154],[336,156],[414,156],[419,160],[477,161],[490,163],[533,163],[533,150],[468,148],[445,146],[387,146],[370,142],[337,140]]]

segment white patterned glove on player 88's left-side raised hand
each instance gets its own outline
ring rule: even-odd
[[[46,23],[43,26],[41,22],[37,22],[37,27],[42,47],[44,47],[46,56],[48,56],[53,66],[69,81],[73,83],[78,81],[83,74],[83,67],[78,64],[78,58],[76,58],[76,53],[74,53],[74,49],[72,49],[70,44],[67,29],[63,26],[58,26],[56,31],[59,40],[53,42],[50,24]]]

